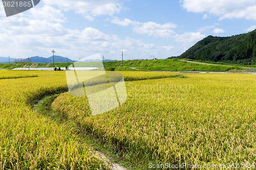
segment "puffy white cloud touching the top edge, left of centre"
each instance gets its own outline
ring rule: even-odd
[[[73,10],[76,13],[84,15],[88,20],[94,20],[93,17],[100,15],[113,15],[126,10],[121,3],[129,0],[44,0],[47,5],[57,5],[61,10]]]

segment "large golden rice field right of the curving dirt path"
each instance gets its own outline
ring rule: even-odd
[[[164,163],[230,164],[230,168],[234,163],[240,169],[241,163],[252,165],[256,161],[255,76],[184,76],[126,81],[127,101],[97,116],[91,116],[86,98],[69,93],[60,95],[52,106],[143,169]]]

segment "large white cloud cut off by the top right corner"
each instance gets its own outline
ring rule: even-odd
[[[181,0],[188,12],[208,12],[220,16],[219,20],[245,18],[256,20],[255,0]]]

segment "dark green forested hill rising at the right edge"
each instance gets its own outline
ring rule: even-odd
[[[208,37],[190,47],[179,58],[256,64],[256,30],[231,37]]]

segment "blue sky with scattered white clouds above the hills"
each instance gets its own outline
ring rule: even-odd
[[[199,40],[256,29],[255,0],[42,0],[11,17],[0,5],[0,56],[164,59]]]

